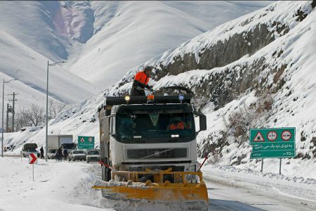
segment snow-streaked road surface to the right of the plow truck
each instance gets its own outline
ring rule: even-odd
[[[209,210],[316,210],[315,184],[204,170]]]

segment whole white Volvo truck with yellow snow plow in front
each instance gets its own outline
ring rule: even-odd
[[[103,197],[207,209],[191,95],[107,96],[98,109]],[[199,131],[206,129],[199,115]]]

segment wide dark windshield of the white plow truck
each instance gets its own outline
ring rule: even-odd
[[[172,142],[191,141],[192,137],[195,137],[194,117],[192,113],[147,113],[132,115],[117,113],[116,134],[118,139],[121,140],[143,140],[136,141],[140,143],[144,143],[144,140],[150,139],[165,139],[162,142],[169,142],[171,139]],[[154,142],[159,143],[160,141]]]

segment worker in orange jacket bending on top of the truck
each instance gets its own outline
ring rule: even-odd
[[[145,88],[153,91],[152,87],[148,85],[150,72],[152,72],[152,68],[146,67],[143,71],[136,73],[131,90],[131,96],[145,96]]]

